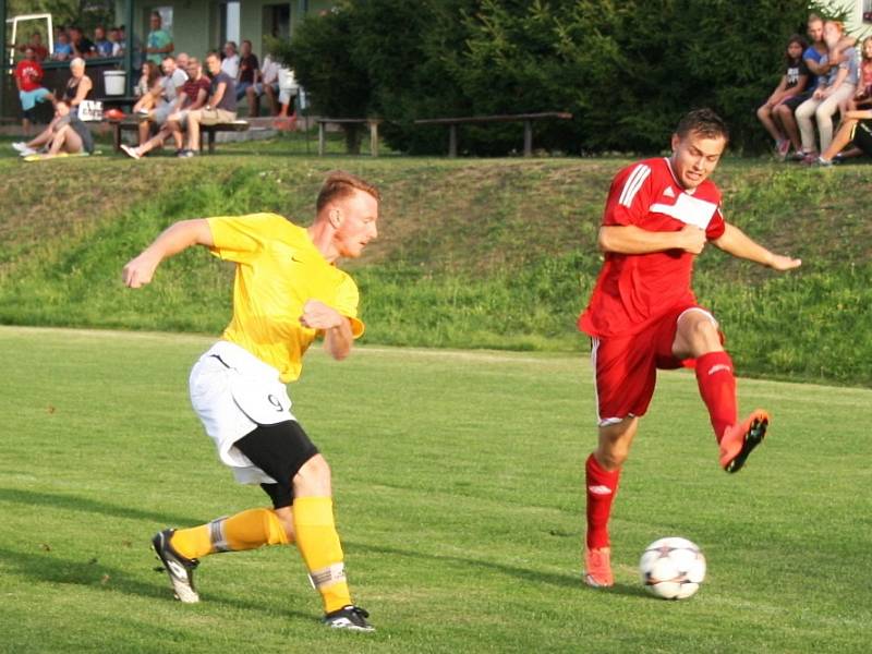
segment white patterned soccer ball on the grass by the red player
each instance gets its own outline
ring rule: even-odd
[[[687,538],[661,538],[645,547],[639,571],[642,583],[657,597],[686,600],[705,579],[705,557]]]

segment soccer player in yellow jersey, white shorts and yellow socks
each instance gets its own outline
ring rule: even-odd
[[[335,263],[360,256],[376,238],[379,199],[375,186],[332,172],[308,228],[275,214],[182,220],[124,266],[124,283],[136,289],[152,281],[161,261],[192,245],[237,264],[233,318],[191,371],[191,403],[221,462],[238,482],[261,484],[272,508],[155,535],[155,552],[182,602],[199,601],[193,572],[204,556],[293,543],[324,601],[324,622],[373,630],[346,582],[330,469],[291,413],[284,385],[300,376],[317,336],[342,360],[363,334],[358,287]]]

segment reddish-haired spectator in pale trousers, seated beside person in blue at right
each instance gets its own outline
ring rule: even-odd
[[[833,114],[838,110],[840,102],[851,98],[857,86],[857,51],[853,47],[849,47],[840,55],[834,55],[844,33],[845,27],[839,21],[824,23],[824,40],[831,49],[827,58],[839,56],[840,60],[838,64],[829,69],[826,78],[821,81],[812,97],[802,102],[796,111],[802,140],[803,161],[807,164],[816,161],[818,153],[829,147],[829,143],[833,141]],[[820,150],[814,144],[812,116],[818,123]]]

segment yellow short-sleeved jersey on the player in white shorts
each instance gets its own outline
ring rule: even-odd
[[[319,300],[349,318],[354,338],[363,334],[358,286],[324,258],[305,228],[277,214],[207,222],[211,253],[237,264],[233,318],[221,338],[278,370],[282,382],[300,376],[303,354],[318,336],[300,324],[308,300]]]

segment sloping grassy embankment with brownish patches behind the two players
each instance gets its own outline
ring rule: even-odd
[[[335,144],[336,149],[339,145]],[[11,148],[3,147],[4,155]],[[311,219],[323,173],[384,191],[382,234],[352,263],[367,342],[584,350],[574,329],[601,258],[595,234],[623,159],[301,156],[302,141],[222,146],[217,156],[0,159],[0,323],[217,332],[231,270],[204,252],[168,262],[132,293],[119,272],[171,221],[275,210]],[[727,159],[728,219],[802,257],[777,275],[708,249],[698,295],[743,374],[872,384],[872,225],[867,166],[806,170]]]

